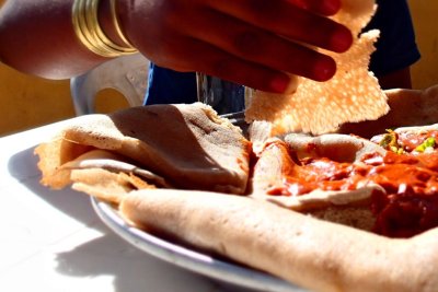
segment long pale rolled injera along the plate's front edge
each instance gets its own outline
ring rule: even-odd
[[[438,230],[391,240],[247,197],[136,191],[128,221],[227,256],[310,291],[436,291]]]

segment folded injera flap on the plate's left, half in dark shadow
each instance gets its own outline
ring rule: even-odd
[[[93,149],[135,161],[177,188],[231,194],[246,189],[250,142],[240,128],[200,103],[131,107],[72,119],[53,141],[36,149],[42,183],[65,187],[71,183],[70,173],[61,165]]]

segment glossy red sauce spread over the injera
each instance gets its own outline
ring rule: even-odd
[[[403,135],[399,143],[414,150],[438,131]],[[438,140],[438,139],[437,139]],[[277,142],[275,147],[286,148]],[[290,157],[295,153],[288,153]],[[335,162],[325,157],[292,160],[283,167],[284,187],[269,195],[301,196],[313,189],[356,189],[359,182],[373,182],[385,192],[374,191],[371,211],[377,218],[373,231],[391,237],[410,237],[438,226],[438,153],[388,151],[384,156],[368,154],[360,162]]]

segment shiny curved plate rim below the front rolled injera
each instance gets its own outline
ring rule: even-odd
[[[270,275],[237,264],[216,259],[209,255],[173,244],[145,231],[129,226],[108,203],[92,197],[94,210],[101,220],[124,240],[139,249],[182,268],[243,288],[270,292],[303,292]]]

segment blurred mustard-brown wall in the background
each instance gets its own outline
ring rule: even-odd
[[[0,5],[3,0],[0,0]],[[413,68],[416,89],[438,83],[438,1],[410,0],[422,51]],[[4,44],[0,44],[2,46]],[[51,81],[20,73],[0,63],[0,136],[73,117],[69,81]],[[114,92],[97,97],[97,110],[105,113],[126,106]]]

